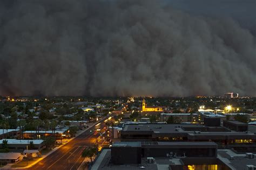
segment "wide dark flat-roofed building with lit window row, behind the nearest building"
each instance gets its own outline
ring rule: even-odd
[[[124,125],[121,141],[214,141],[221,147],[256,151],[256,134],[235,132],[223,126],[201,124]]]

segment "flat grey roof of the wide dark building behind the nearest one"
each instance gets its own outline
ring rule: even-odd
[[[223,129],[223,130],[221,130]],[[220,138],[229,137],[241,137],[256,139],[256,134],[251,132],[236,132],[228,131],[222,126],[208,128],[202,124],[138,124],[138,125],[124,125],[122,134],[152,134],[154,137],[160,136],[173,136],[179,134],[179,136],[185,136],[188,138],[204,137],[206,138],[218,136]]]

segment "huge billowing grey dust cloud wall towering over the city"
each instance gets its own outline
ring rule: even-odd
[[[256,95],[253,30],[159,1],[0,2],[0,94]]]

